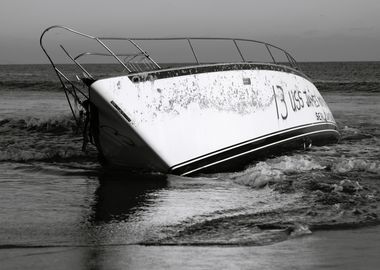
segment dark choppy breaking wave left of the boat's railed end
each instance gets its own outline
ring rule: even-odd
[[[82,133],[72,116],[0,120],[0,161],[87,160]]]

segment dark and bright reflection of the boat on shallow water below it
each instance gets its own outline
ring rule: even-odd
[[[298,194],[247,189],[225,177],[107,173],[99,180],[88,243],[265,245],[310,233],[284,223],[304,212]]]

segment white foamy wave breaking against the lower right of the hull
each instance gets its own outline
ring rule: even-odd
[[[332,156],[324,157],[333,153]],[[347,175],[347,173],[366,172],[370,174],[380,173],[380,162],[364,158],[347,158],[334,156],[334,150],[322,148],[312,153],[279,156],[273,159],[260,161],[235,173],[217,174],[218,178],[227,178],[234,183],[262,188],[267,185],[279,183],[289,179],[305,177],[331,177]],[[306,173],[306,174],[305,174]]]

